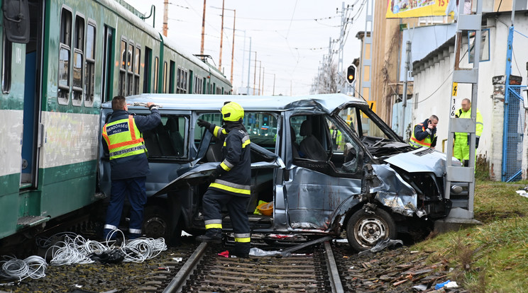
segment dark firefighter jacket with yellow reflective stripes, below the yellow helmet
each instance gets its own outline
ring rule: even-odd
[[[251,195],[251,142],[240,122],[229,122],[225,128],[214,124],[209,131],[223,142],[222,157],[216,171],[220,174],[209,188],[249,197]]]

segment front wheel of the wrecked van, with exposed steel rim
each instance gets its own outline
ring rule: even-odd
[[[375,209],[373,212],[360,209],[352,214],[346,224],[348,244],[356,251],[365,251],[380,240],[395,239],[396,236],[396,224],[383,209]]]

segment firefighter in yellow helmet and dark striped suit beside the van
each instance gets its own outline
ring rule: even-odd
[[[221,243],[221,207],[225,205],[231,217],[235,236],[232,255],[247,258],[250,249],[248,201],[251,195],[251,142],[242,125],[244,110],[241,105],[226,102],[220,110],[223,127],[198,120],[199,127],[206,127],[220,142],[223,161],[209,176],[209,188],[203,198],[206,233],[198,241]]]

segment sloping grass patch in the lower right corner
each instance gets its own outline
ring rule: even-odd
[[[451,280],[470,292],[528,292],[528,198],[515,193],[527,185],[478,181],[474,212],[483,224],[412,249],[428,251],[430,263],[447,263]]]

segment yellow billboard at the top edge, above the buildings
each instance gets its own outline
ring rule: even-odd
[[[387,0],[386,18],[446,16],[455,10],[456,0]]]

